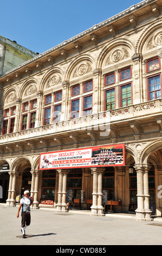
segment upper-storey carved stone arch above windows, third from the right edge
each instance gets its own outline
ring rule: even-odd
[[[83,75],[88,73],[88,68],[91,67],[92,70],[90,71],[93,71],[95,69],[95,60],[93,59],[93,57],[90,56],[89,54],[81,54],[79,57],[76,57],[75,59],[73,59],[72,62],[69,64],[66,70],[66,73],[64,75],[64,81],[70,81],[70,77],[72,76],[72,73],[74,73],[76,69],[79,69],[80,65],[82,64],[86,65],[85,72],[83,72]]]

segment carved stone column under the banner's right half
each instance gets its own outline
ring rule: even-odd
[[[91,215],[103,216],[102,206],[102,173],[103,168],[91,168],[93,172],[93,205],[91,206]]]

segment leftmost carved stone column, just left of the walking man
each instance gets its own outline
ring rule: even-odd
[[[18,172],[11,171],[9,172],[9,174],[10,174],[10,182],[9,182],[7,206],[15,206],[15,202],[16,202],[15,185],[16,185],[16,177],[18,176]]]

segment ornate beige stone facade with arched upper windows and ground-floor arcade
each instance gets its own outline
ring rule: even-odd
[[[7,205],[29,189],[34,208],[79,202],[103,215],[113,202],[137,220],[161,216],[161,6],[133,5],[0,78]],[[120,145],[124,164],[41,167],[41,156]]]

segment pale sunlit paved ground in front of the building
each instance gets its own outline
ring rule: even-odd
[[[31,209],[31,224],[23,239],[17,210],[17,206],[0,204],[0,245],[162,245],[162,218],[145,222],[122,215],[99,217],[88,211],[57,213],[47,209]]]

